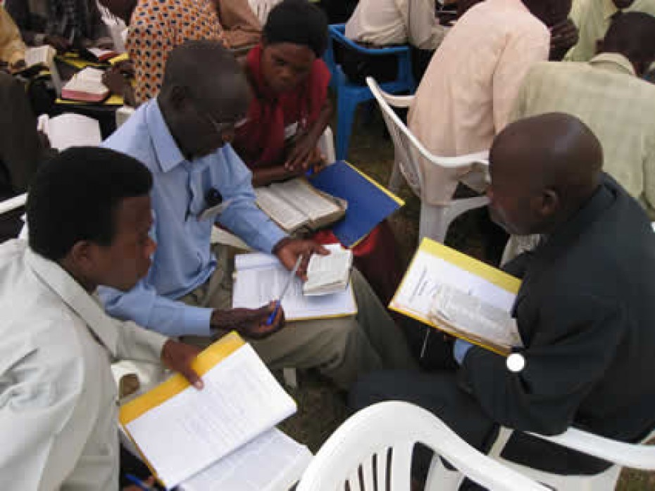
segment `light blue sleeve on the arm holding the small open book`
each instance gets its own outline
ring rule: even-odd
[[[255,204],[252,174],[230,145],[223,148],[217,188],[223,200],[232,200],[218,222],[252,248],[270,253],[285,234]]]

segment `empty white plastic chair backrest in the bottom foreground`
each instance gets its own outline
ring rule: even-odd
[[[361,410],[337,428],[309,464],[297,491],[344,490],[345,483],[351,491],[373,491],[374,473],[378,490],[408,491],[416,442],[489,489],[547,490],[478,452],[425,409],[389,401]]]

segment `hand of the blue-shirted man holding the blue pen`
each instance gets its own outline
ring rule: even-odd
[[[285,313],[282,307],[277,309],[277,314],[270,325],[266,321],[275,310],[276,302],[270,302],[258,309],[230,309],[214,310],[209,321],[213,329],[229,330],[234,329],[237,333],[249,339],[267,338],[273,333],[280,331],[285,325]]]

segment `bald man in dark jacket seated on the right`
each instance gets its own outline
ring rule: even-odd
[[[512,373],[504,357],[458,341],[458,370],[374,374],[354,389],[354,406],[414,402],[480,449],[498,425],[547,435],[576,426],[640,440],[655,426],[649,219],[601,172],[599,142],[575,117],[513,123],[494,141],[490,162],[494,221],[512,234],[544,236],[506,267],[523,279],[513,315],[525,369]],[[562,474],[609,465],[518,432],[504,457]]]

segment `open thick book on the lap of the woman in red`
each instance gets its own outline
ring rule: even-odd
[[[318,191],[302,177],[256,188],[255,195],[257,206],[287,234],[327,227],[348,207],[345,200]]]

